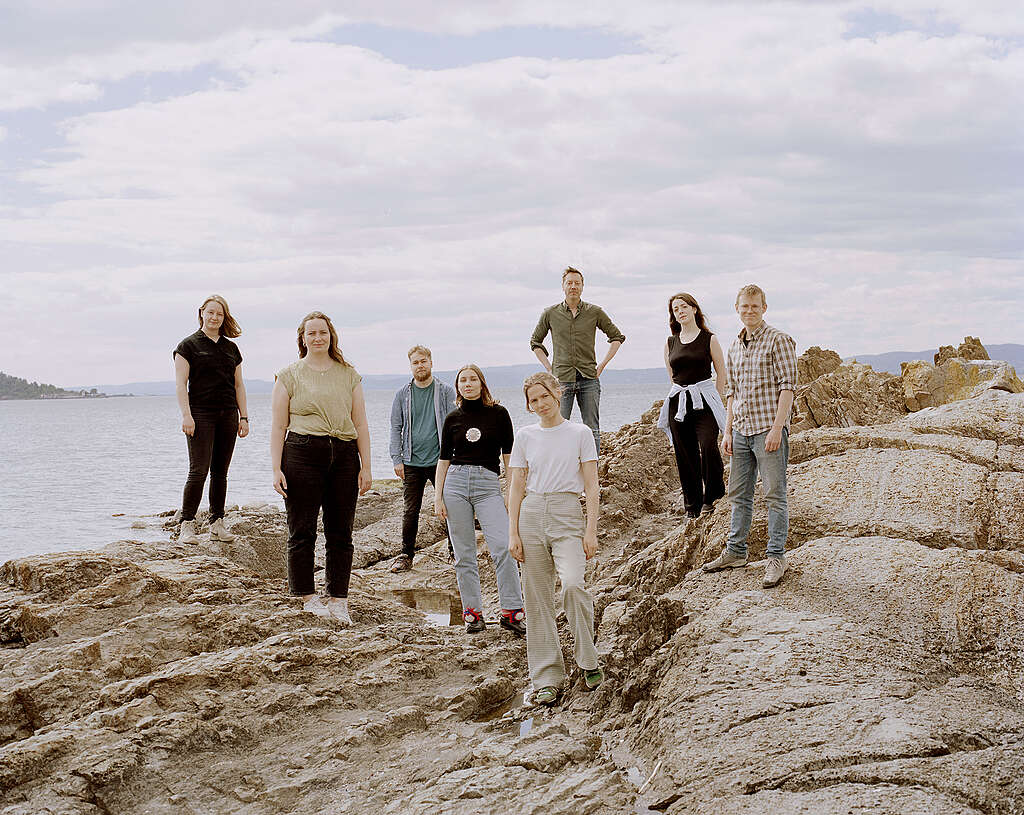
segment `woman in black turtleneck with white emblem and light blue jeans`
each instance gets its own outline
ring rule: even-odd
[[[456,404],[441,430],[434,513],[447,520],[466,631],[476,634],[485,628],[476,566],[475,516],[495,563],[502,603],[499,624],[523,636],[526,615],[519,570],[509,554],[509,516],[498,480],[500,462],[504,460],[508,467],[512,453],[512,419],[495,401],[483,372],[474,364],[463,366],[456,375]]]

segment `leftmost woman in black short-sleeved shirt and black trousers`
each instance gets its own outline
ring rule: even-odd
[[[229,337],[242,329],[227,301],[212,294],[199,307],[199,331],[174,349],[174,380],[181,432],[188,442],[188,478],[181,497],[178,541],[197,544],[196,511],[210,476],[210,540],[233,541],[224,528],[227,467],[234,438],[249,435],[242,353]]]

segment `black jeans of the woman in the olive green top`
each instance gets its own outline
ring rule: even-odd
[[[288,482],[288,588],[313,594],[316,517],[324,508],[327,593],[348,597],[352,573],[352,522],[359,497],[359,452],[355,440],[289,433],[281,457]]]

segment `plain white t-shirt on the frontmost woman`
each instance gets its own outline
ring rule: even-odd
[[[565,421],[554,427],[539,424],[515,434],[509,467],[529,468],[530,492],[583,492],[583,462],[597,461],[594,433],[586,425]]]

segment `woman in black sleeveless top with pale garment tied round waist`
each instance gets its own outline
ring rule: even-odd
[[[725,495],[722,454],[718,448],[721,428],[716,419],[716,411],[722,417],[725,414],[725,357],[692,295],[681,292],[669,298],[669,328],[672,334],[665,344],[665,367],[673,383],[685,390],[669,399],[668,432],[676,452],[683,505],[686,514],[695,518],[701,512],[711,512],[715,502]],[[685,401],[680,404],[680,399]],[[681,421],[677,418],[680,408],[685,415]]]

